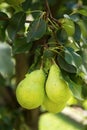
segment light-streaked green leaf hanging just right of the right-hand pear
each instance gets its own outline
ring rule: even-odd
[[[82,86],[73,82],[68,76],[65,76],[65,80],[69,84],[69,88],[75,98],[83,100],[82,98]]]

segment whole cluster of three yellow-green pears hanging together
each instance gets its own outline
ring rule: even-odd
[[[27,74],[17,86],[16,97],[19,104],[26,109],[42,105],[47,111],[58,113],[66,106],[71,91],[59,67],[53,64],[47,79],[42,69]]]

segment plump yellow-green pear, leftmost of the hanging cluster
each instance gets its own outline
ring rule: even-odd
[[[16,89],[19,104],[26,109],[39,107],[44,100],[44,83],[45,74],[42,69],[27,74]]]

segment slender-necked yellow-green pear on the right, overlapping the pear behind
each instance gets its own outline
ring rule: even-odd
[[[71,91],[67,82],[63,79],[61,71],[56,64],[50,68],[46,81],[46,93],[50,100],[55,103],[67,102],[71,97]]]

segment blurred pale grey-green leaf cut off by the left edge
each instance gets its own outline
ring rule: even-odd
[[[14,73],[11,48],[5,43],[0,43],[0,73],[3,77],[12,76]]]

